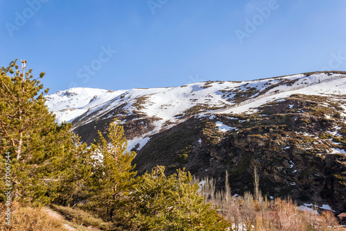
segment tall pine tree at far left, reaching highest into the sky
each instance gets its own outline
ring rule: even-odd
[[[16,61],[1,67],[0,74],[0,154],[10,153],[13,196],[19,200],[46,203],[57,182],[54,160],[71,144],[71,125],[55,123],[46,108],[43,85],[34,79],[32,69],[23,73]],[[56,166],[54,166],[54,164]],[[66,167],[66,166],[65,166]]]

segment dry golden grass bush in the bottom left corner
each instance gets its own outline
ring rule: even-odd
[[[12,204],[11,225],[6,225],[5,209],[1,208],[0,230],[14,231],[68,231],[62,221],[52,219],[42,208],[21,207],[18,203]]]

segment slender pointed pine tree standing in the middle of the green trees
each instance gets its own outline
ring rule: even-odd
[[[126,151],[127,139],[120,121],[115,119],[108,128],[108,142],[99,131],[99,141],[93,145],[95,154],[93,167],[92,206],[107,208],[111,219],[122,219],[127,207],[127,199],[131,192],[136,172],[131,165],[136,156],[133,151]]]

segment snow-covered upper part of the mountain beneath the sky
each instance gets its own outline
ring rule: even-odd
[[[337,79],[329,80],[333,77]],[[78,87],[46,96],[46,105],[56,114],[59,123],[73,121],[75,126],[82,126],[95,119],[136,114],[134,119],[156,118],[154,127],[158,130],[192,114],[215,113],[216,109],[230,108],[261,95],[262,99],[217,113],[251,113],[264,103],[297,93],[329,95],[337,99],[338,95],[346,94],[346,78],[343,77],[346,75],[339,73],[297,74],[242,82],[209,81],[181,87],[116,91]],[[295,89],[298,87],[302,88]]]

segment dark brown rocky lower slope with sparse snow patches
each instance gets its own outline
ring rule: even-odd
[[[253,190],[256,167],[263,194],[346,209],[346,124],[333,117],[337,105],[327,104],[323,97],[297,95],[257,114],[192,117],[154,135],[134,160],[136,170],[185,167],[214,177],[218,188],[227,170],[233,193],[242,194]],[[222,132],[220,122],[232,129]]]

